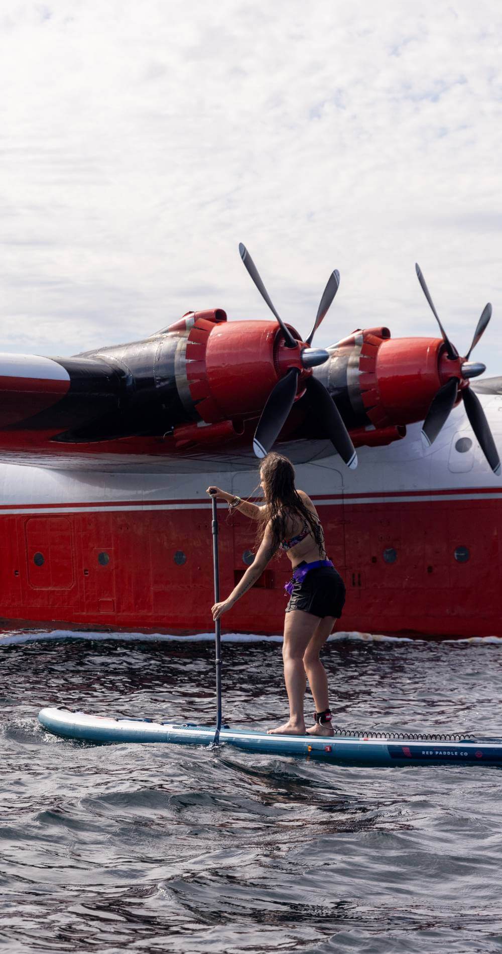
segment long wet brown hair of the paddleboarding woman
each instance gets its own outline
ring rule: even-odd
[[[291,461],[282,457],[282,454],[270,453],[263,457],[260,471],[265,496],[259,529],[260,540],[265,524],[270,520],[275,552],[286,537],[288,518],[298,516],[310,529],[319,552],[324,553],[323,529],[316,514],[305,507],[295,488],[295,470]]]

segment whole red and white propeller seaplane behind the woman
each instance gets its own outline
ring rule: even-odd
[[[256,456],[277,446],[345,577],[345,630],[498,635],[502,379],[474,391],[485,368],[470,360],[491,306],[461,357],[417,266],[440,338],[366,328],[315,349],[338,272],[303,340],[240,250],[273,321],[190,312],[73,358],[0,356],[4,626],[210,630],[205,488],[252,495]],[[222,594],[252,561],[256,532],[225,510]],[[280,633],[289,570],[272,561],[226,630]]]

